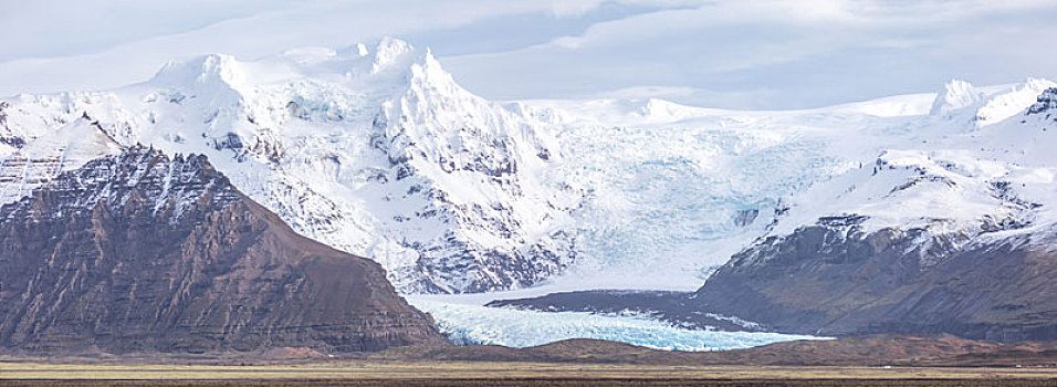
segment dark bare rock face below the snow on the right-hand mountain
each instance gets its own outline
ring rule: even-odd
[[[955,248],[966,241],[816,224],[736,254],[693,302],[779,332],[1057,339],[1053,237]]]

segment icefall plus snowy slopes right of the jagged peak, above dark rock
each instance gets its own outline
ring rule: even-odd
[[[921,230],[912,249],[932,263],[996,231],[1045,228],[1057,221],[1047,205],[1057,158],[1046,150],[1057,138],[1043,112],[1054,86],[954,81],[936,94],[794,112],[525,103],[566,123],[563,146],[590,149],[565,164],[590,187],[573,212],[582,259],[571,272],[613,272],[556,287],[697,287],[710,264],[819,223],[860,233],[848,238]]]

